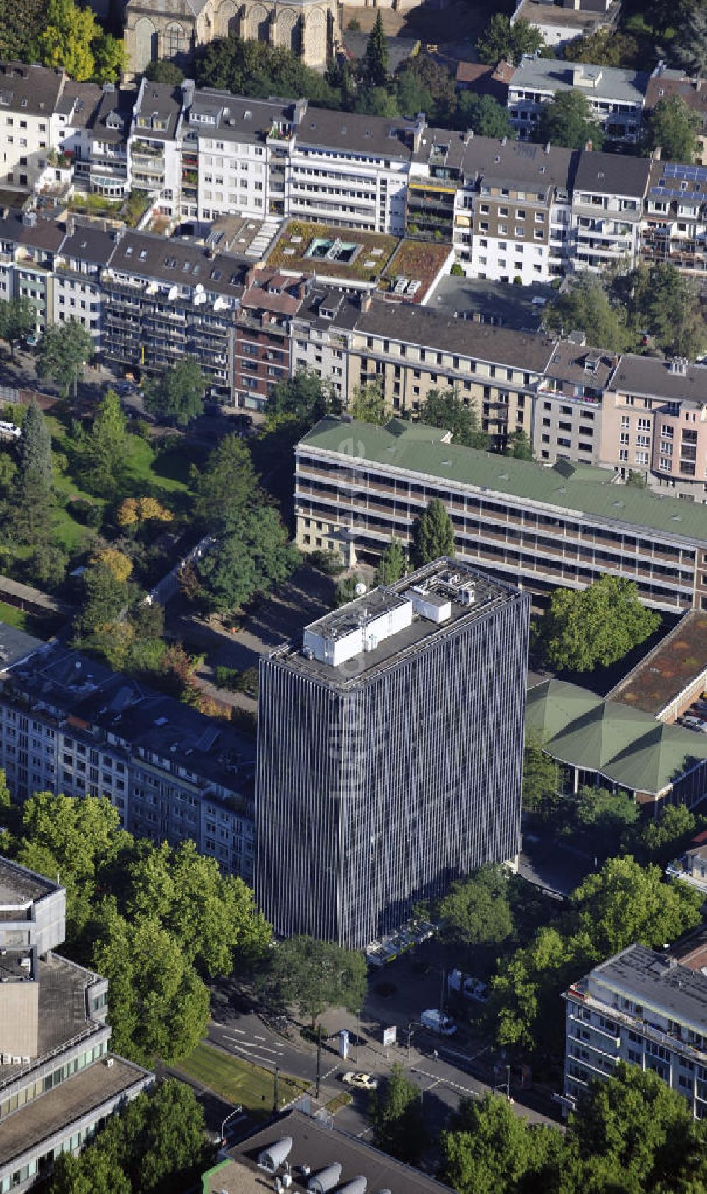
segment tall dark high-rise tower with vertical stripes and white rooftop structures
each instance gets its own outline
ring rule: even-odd
[[[529,598],[453,559],[260,663],[256,891],[361,947],[521,836]]]

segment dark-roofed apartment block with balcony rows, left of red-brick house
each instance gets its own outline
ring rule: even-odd
[[[156,371],[195,357],[214,399],[230,402],[235,313],[248,264],[209,245],[124,233],[102,273],[104,355]]]

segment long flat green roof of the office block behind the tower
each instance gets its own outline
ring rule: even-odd
[[[560,510],[660,531],[677,538],[707,541],[707,506],[659,498],[633,486],[616,485],[605,468],[559,461],[547,468],[442,442],[438,427],[393,419],[385,427],[327,416],[302,439],[308,448],[339,453],[406,473],[426,473],[451,485],[471,485]],[[354,451],[351,450],[354,447]]]

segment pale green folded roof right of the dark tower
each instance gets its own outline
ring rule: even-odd
[[[559,681],[545,681],[528,693],[528,730],[543,737],[543,750],[558,762],[651,795],[707,759],[706,736]]]

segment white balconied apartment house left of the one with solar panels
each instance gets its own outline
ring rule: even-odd
[[[579,156],[570,216],[570,263],[577,270],[637,260],[651,162],[610,153]]]

